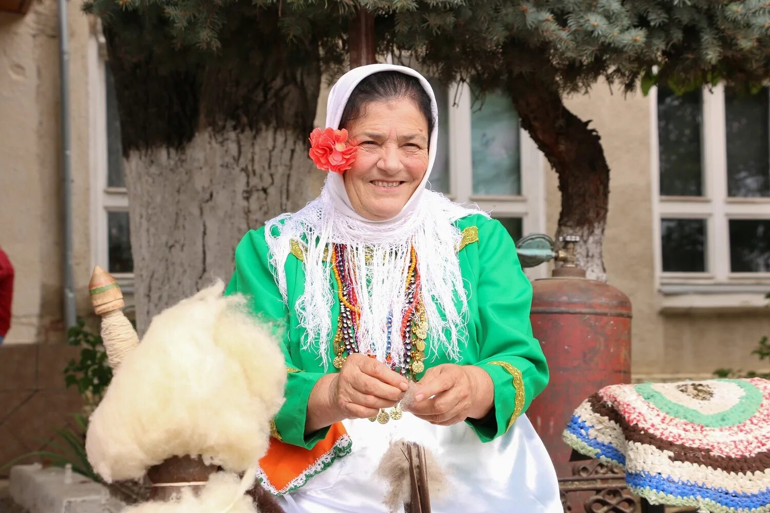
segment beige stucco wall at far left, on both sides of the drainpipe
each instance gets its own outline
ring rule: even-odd
[[[69,5],[74,260],[79,314],[88,313],[89,18]],[[0,246],[15,266],[5,343],[61,341],[62,199],[59,25],[55,0],[25,16],[0,13]]]

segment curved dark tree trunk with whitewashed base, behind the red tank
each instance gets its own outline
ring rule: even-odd
[[[541,83],[542,82],[542,83]],[[601,138],[590,121],[572,114],[555,88],[537,74],[515,75],[508,82],[521,125],[544,153],[559,178],[561,213],[556,232],[578,235],[577,265],[588,278],[606,281],[601,244],[607,224],[610,168]]]

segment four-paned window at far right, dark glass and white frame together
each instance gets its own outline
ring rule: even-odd
[[[770,90],[651,97],[661,290],[770,289]]]

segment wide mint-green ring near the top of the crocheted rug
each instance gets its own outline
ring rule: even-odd
[[[718,379],[715,381],[728,381],[731,384],[738,385],[743,389],[745,395],[738,401],[737,405],[729,410],[711,415],[701,413],[684,405],[678,405],[661,394],[661,392],[654,390],[650,383],[636,385],[634,390],[645,401],[650,402],[659,410],[671,415],[671,417],[681,418],[693,424],[704,425],[707,428],[726,428],[727,426],[742,424],[751,418],[758,411],[759,406],[762,405],[762,391],[758,390],[748,381],[738,379]]]

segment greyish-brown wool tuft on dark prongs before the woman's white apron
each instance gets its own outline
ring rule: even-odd
[[[383,458],[374,471],[377,477],[387,483],[387,494],[383,499],[383,504],[389,511],[400,511],[404,503],[411,497],[411,484],[409,477],[409,459],[405,454],[406,448],[403,440],[390,441],[390,445],[385,451]],[[430,501],[440,501],[447,492],[447,475],[441,468],[437,458],[428,448],[425,450],[425,460],[427,461],[428,491]]]

